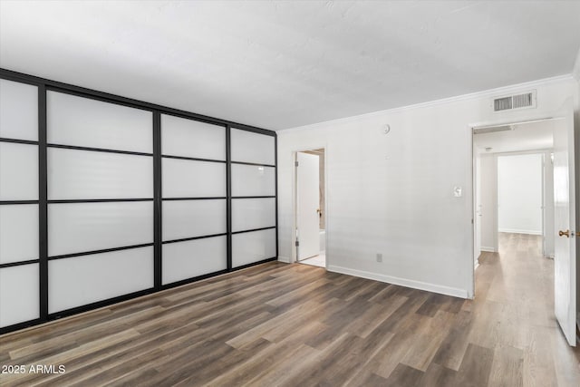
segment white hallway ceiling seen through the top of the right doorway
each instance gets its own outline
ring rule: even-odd
[[[549,150],[554,147],[554,128],[561,124],[560,120],[516,124],[511,126],[512,131],[476,134],[473,143],[478,153]]]

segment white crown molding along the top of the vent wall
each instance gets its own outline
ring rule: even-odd
[[[578,61],[576,61],[576,63],[577,62]],[[476,100],[476,99],[480,99],[480,98],[493,97],[493,96],[501,95],[501,94],[509,94],[509,93],[513,93],[513,92],[526,91],[528,89],[533,89],[533,88],[545,86],[548,84],[556,84],[559,82],[570,82],[571,80],[574,80],[574,79],[575,79],[575,77],[573,76],[573,74],[569,73],[569,74],[564,74],[564,75],[558,75],[555,77],[544,78],[544,79],[540,79],[540,80],[536,80],[536,81],[522,82],[522,83],[512,84],[512,85],[508,85],[508,86],[498,87],[495,89],[488,89],[488,90],[484,90],[481,92],[470,92],[468,94],[461,94],[461,95],[457,95],[454,97],[442,98],[440,100],[434,100],[434,101],[430,101],[430,102],[420,102],[420,103],[415,103],[412,105],[401,106],[398,108],[385,109],[383,111],[372,111],[369,113],[359,114],[359,115],[350,116],[350,117],[344,117],[344,118],[340,118],[340,119],[336,119],[336,120],[322,121],[322,122],[311,123],[308,125],[297,126],[294,128],[281,129],[281,130],[276,131],[276,133],[277,134],[284,134],[287,132],[294,132],[294,131],[314,130],[316,128],[324,127],[327,125],[336,125],[336,124],[342,124],[342,123],[346,123],[346,122],[350,122],[350,121],[371,119],[373,117],[382,116],[385,114],[394,114],[394,113],[398,113],[401,111],[424,109],[424,108],[440,106],[440,105],[451,103],[451,102],[462,102],[462,101]]]

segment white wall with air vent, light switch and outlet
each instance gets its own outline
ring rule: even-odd
[[[536,109],[491,111],[493,96],[530,88]],[[469,125],[546,117],[576,94],[568,76],[278,131],[278,258],[294,254],[293,152],[325,147],[328,269],[472,296]]]

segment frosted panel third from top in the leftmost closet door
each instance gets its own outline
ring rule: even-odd
[[[38,259],[38,205],[0,206],[0,264]]]

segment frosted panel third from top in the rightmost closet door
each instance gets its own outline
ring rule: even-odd
[[[275,198],[232,200],[232,231],[275,226]]]

